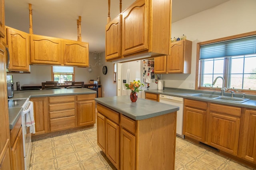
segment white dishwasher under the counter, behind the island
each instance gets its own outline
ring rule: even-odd
[[[184,135],[182,134],[184,99],[182,97],[159,95],[159,102],[180,107],[180,110],[177,111],[176,135],[184,138]]]

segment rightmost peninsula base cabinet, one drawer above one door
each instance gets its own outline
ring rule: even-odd
[[[77,126],[94,124],[96,94],[76,95]]]

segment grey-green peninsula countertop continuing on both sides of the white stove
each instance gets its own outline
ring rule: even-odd
[[[62,96],[62,95],[84,95],[95,94],[94,90],[81,89],[49,89],[49,90],[27,90],[14,91],[14,97],[11,99],[31,98],[31,97],[48,97],[48,96]],[[16,122],[22,114],[22,107],[9,108],[9,127],[10,130],[15,126]]]

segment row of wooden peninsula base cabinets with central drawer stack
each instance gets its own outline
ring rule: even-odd
[[[95,123],[96,94],[32,97],[36,133],[44,134]]]

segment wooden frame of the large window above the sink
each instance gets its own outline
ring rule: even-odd
[[[201,86],[202,62],[200,61],[200,45],[222,42],[222,41],[226,41],[226,40],[233,40],[233,39],[236,39],[236,38],[243,38],[243,37],[254,36],[254,35],[256,35],[256,31],[197,43],[197,47],[196,47],[196,83],[195,83],[195,89],[196,90],[203,90],[203,91],[218,91],[218,92],[221,90],[221,87],[212,88],[212,87],[202,87]],[[225,61],[227,59],[228,59],[228,57],[224,59],[224,70],[229,69],[228,62]],[[226,71],[226,73],[228,73],[228,71]],[[227,87],[227,83],[228,83],[227,77],[228,76],[229,75],[227,75],[227,74],[223,75],[223,78],[225,79],[225,87]],[[256,90],[231,89],[231,88],[228,88],[228,90],[233,90],[236,93],[246,93],[246,94],[256,95]]]

